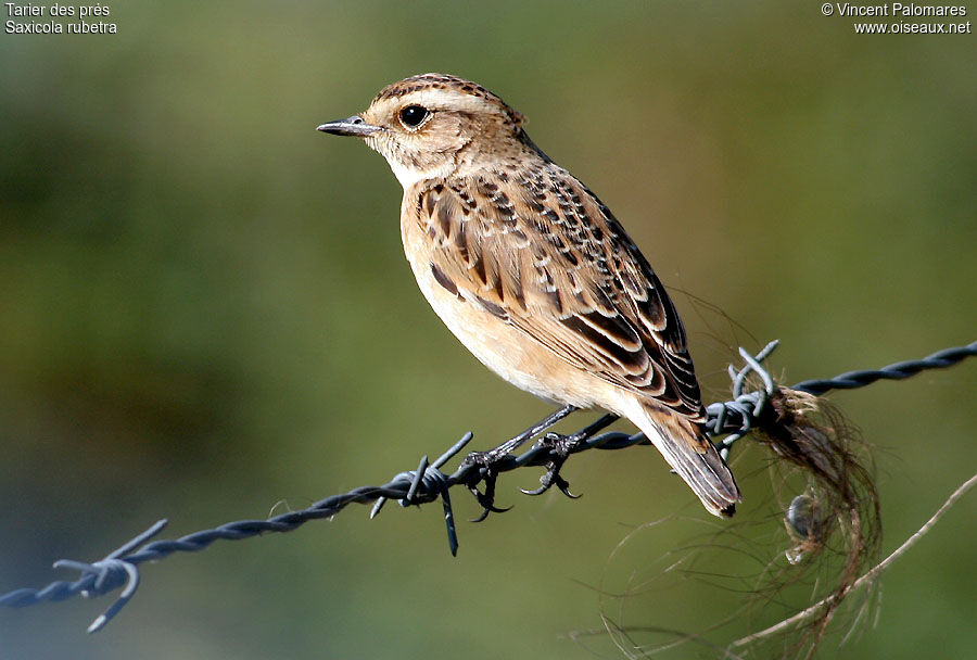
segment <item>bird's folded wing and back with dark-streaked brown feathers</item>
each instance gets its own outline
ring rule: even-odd
[[[441,285],[571,365],[702,421],[685,330],[661,281],[564,169],[546,163],[435,185],[414,216]]]

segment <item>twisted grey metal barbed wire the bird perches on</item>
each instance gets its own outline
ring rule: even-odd
[[[773,341],[756,355],[740,348],[739,355],[744,359],[744,366],[739,369],[728,367],[729,378],[733,381],[733,398],[714,403],[706,408],[708,416],[706,426],[709,434],[713,437],[727,435],[716,445],[724,458],[735,442],[760,423],[761,412],[776,389],[762,363],[773,353],[777,344],[778,342]],[[973,356],[977,356],[977,342],[947,348],[923,359],[896,363],[881,369],[848,371],[828,380],[805,380],[790,389],[822,395],[830,390],[863,388],[881,379],[905,379],[921,371],[951,367]],[[750,382],[757,381],[760,384],[757,390],[744,391]],[[614,415],[605,415],[571,435],[547,432],[541,436],[541,433],[574,410],[572,406],[561,408],[496,449],[469,455],[452,474],[442,472],[441,468],[471,441],[471,432],[466,433],[434,462],[429,462],[428,457],[423,456],[416,470],[401,472],[384,485],[354,488],[348,493],[321,499],[300,511],[289,511],[266,520],[229,522],[177,540],[150,541],[167,524],[165,519],[160,520],[102,559],[90,563],[67,559],[54,562],[55,569],[79,571],[78,580],[52,582],[40,589],[15,589],[0,596],[0,606],[27,607],[38,602],[65,600],[78,595],[89,598],[123,587],[115,602],[88,626],[88,632],[93,633],[104,627],[135,595],[140,583],[139,564],[156,561],[175,553],[200,551],[218,540],[241,541],[266,532],[291,532],[310,520],[331,518],[353,503],[375,503],[370,512],[370,518],[373,518],[388,499],[396,499],[403,507],[441,499],[448,548],[452,555],[455,555],[458,550],[458,535],[448,494],[452,487],[465,486],[475,496],[483,507],[482,515],[477,521],[482,521],[492,512],[506,510],[496,508],[494,504],[496,479],[503,472],[531,466],[544,467],[547,471],[540,480],[541,487],[523,492],[537,495],[555,485],[566,495],[573,497],[569,490],[570,484],[559,473],[570,455],[588,449],[621,449],[636,444],[650,444],[642,433],[631,435],[614,431],[600,433],[618,419]],[[511,448],[533,437],[538,439],[530,449],[518,456],[509,453]],[[498,449],[505,452],[499,454]],[[483,486],[481,491],[479,485]]]

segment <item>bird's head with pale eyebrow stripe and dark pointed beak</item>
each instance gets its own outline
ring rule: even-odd
[[[364,138],[406,189],[481,158],[515,157],[529,143],[523,122],[481,85],[422,74],[384,88],[365,112],[318,130]]]

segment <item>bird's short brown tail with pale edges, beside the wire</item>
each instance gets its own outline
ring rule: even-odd
[[[661,452],[710,513],[732,517],[743,495],[702,424],[656,405],[636,403],[640,414],[629,415],[631,421]]]

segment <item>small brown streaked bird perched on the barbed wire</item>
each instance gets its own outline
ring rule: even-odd
[[[674,304],[611,211],[481,85],[428,73],[317,130],[361,138],[404,189],[401,237],[434,312],[486,367],[647,436],[705,508],[743,496],[706,434]]]

